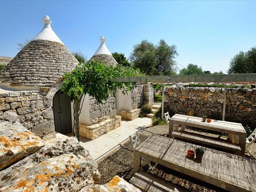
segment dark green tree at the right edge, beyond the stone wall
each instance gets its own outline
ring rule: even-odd
[[[236,54],[230,61],[228,73],[256,73],[256,47]]]

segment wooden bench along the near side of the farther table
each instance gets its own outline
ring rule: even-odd
[[[233,154],[240,155],[241,147],[236,143],[230,143],[227,141],[217,140],[215,138],[209,138],[203,135],[187,133],[183,131],[173,131],[172,139],[180,138],[186,141],[192,141],[195,143],[202,143],[204,145],[214,146],[216,148],[223,148],[232,151]]]

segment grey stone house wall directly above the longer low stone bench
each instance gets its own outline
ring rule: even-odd
[[[90,125],[102,122],[105,116],[116,116],[116,98],[110,96],[107,100],[104,100],[102,104],[99,104],[96,99],[90,97]]]

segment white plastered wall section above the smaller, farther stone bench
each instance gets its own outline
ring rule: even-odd
[[[131,111],[131,91],[128,94],[122,94],[122,90],[116,93],[116,114],[119,115],[119,110]]]

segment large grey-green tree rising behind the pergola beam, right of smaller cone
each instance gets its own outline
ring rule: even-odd
[[[169,46],[163,39],[156,46],[143,40],[134,45],[130,60],[135,68],[147,75],[172,75],[176,70],[176,49],[175,45]]]

